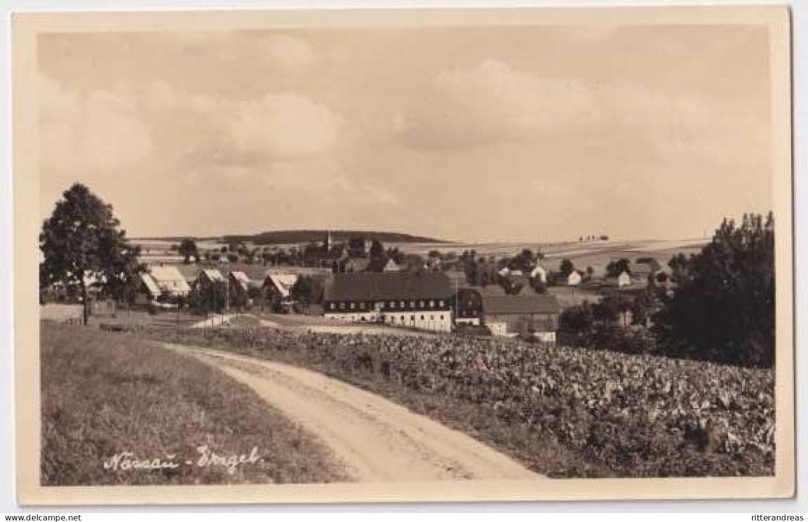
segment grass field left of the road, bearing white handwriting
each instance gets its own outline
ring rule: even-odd
[[[42,464],[47,486],[335,482],[341,466],[220,370],[126,334],[42,323]],[[198,448],[227,466],[200,466]],[[105,469],[123,452],[173,469]],[[190,461],[187,465],[185,462]]]

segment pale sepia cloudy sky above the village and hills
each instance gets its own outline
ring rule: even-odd
[[[536,26],[40,35],[40,218],[693,238],[772,208],[768,35]]]

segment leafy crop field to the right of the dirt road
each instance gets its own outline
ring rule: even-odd
[[[138,332],[322,371],[467,432],[550,477],[774,472],[771,370],[451,336],[274,328]]]

